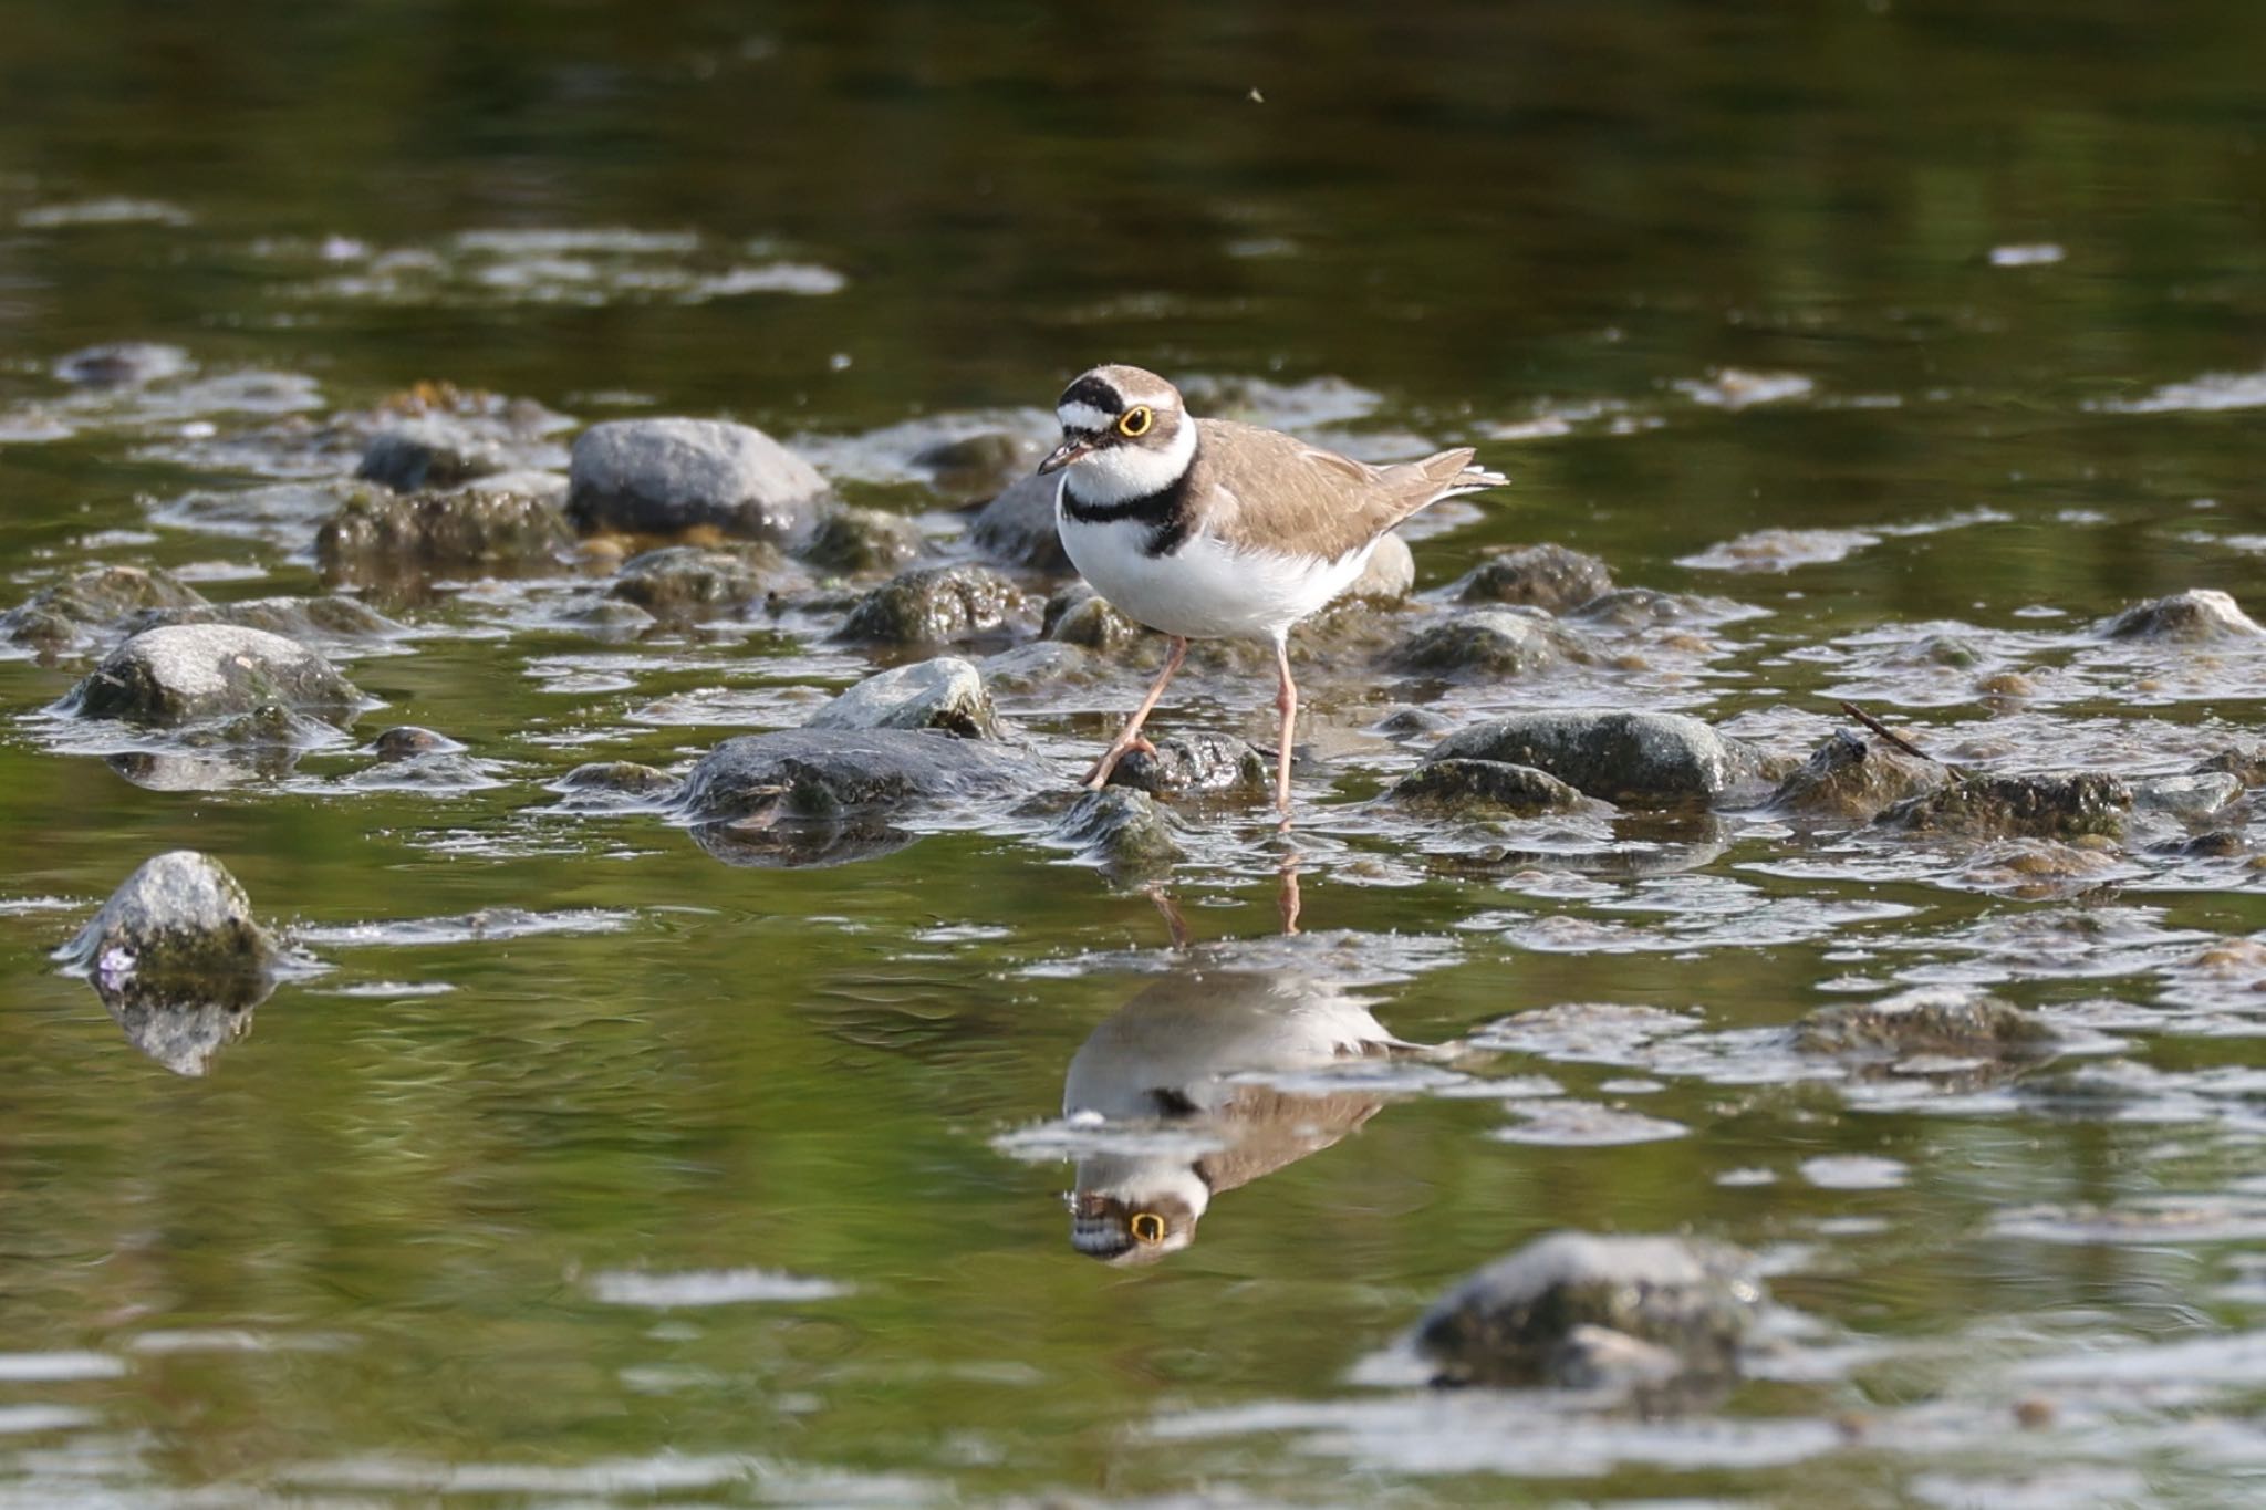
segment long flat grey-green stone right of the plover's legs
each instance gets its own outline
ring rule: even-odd
[[[1720,797],[1761,774],[1761,754],[1684,713],[1570,709],[1459,729],[1428,761],[1534,765],[1607,801]]]

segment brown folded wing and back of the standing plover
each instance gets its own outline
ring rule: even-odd
[[[1190,478],[1208,534],[1233,546],[1276,546],[1337,559],[1453,491],[1468,448],[1423,462],[1371,466],[1294,435],[1199,419]]]

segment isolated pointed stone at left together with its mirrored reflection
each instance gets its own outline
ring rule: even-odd
[[[220,860],[177,849],[127,876],[54,958],[84,971],[127,1039],[202,1075],[274,989],[276,942]]]

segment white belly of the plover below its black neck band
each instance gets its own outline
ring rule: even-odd
[[[1149,525],[1088,525],[1054,507],[1063,552],[1097,593],[1135,623],[1187,638],[1262,638],[1289,634],[1307,614],[1353,586],[1375,541],[1335,561],[1273,550],[1233,550],[1210,534],[1190,534],[1162,557],[1142,552]]]

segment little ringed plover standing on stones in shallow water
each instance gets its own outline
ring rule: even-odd
[[[1038,464],[1063,473],[1054,523],[1097,593],[1172,636],[1165,670],[1085,774],[1101,788],[1126,749],[1149,749],[1142,722],[1181,670],[1192,638],[1260,638],[1276,647],[1276,808],[1289,820],[1289,738],[1298,688],[1289,632],[1353,586],[1378,539],[1416,509],[1502,487],[1473,451],[1371,466],[1305,441],[1196,419],[1178,389],[1140,367],[1094,367],[1054,405],[1063,444]]]

